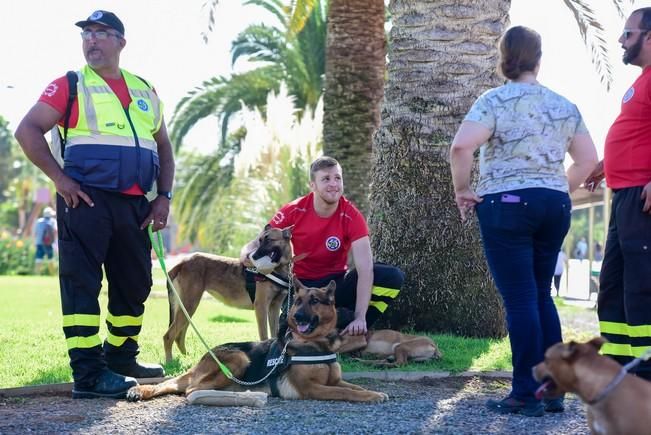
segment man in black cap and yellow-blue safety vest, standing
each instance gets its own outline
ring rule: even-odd
[[[122,398],[134,378],[163,376],[141,364],[138,336],[152,285],[146,227],[165,227],[174,178],[163,106],[153,87],[121,69],[124,25],[95,11],[81,28],[87,65],[50,83],[16,130],[23,151],[57,190],[59,283],[72,397]],[[62,139],[52,154],[43,136]],[[57,163],[57,159],[61,163]],[[157,187],[149,202],[145,193]],[[103,270],[102,270],[103,269]],[[102,271],[107,337],[99,336]]]

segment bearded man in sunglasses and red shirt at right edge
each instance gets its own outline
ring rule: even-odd
[[[609,341],[602,352],[625,364],[651,346],[651,8],[631,14],[619,42],[624,63],[642,74],[624,94],[586,186],[594,190],[605,175],[614,192],[597,312]],[[651,380],[651,362],[636,374]]]

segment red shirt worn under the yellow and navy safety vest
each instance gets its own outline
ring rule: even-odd
[[[120,77],[119,79],[104,79],[107,85],[113,90],[115,95],[120,100],[122,107],[125,109],[131,104],[131,95],[129,95],[129,89],[127,88],[127,83],[124,81],[124,78]],[[68,105],[68,95],[70,90],[68,89],[68,79],[66,76],[59,77],[54,80],[52,83],[47,85],[41,97],[38,101],[43,102],[54,108],[57,112],[61,113],[61,118],[59,118],[58,124],[63,127],[64,117],[66,113],[66,106]],[[70,110],[70,120],[68,121],[68,127],[74,128],[77,126],[77,121],[79,120],[79,102],[78,98],[72,102],[72,108]],[[122,191],[127,195],[144,195],[145,192],[142,191],[140,186],[137,183],[134,183],[133,186],[127,190]]]

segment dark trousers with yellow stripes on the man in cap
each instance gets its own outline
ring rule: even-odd
[[[144,302],[151,290],[151,242],[140,224],[150,205],[144,196],[84,187],[94,207],[66,206],[57,195],[59,282],[63,331],[77,387],[92,386],[108,364],[138,354]],[[108,335],[99,337],[102,266],[108,281]]]

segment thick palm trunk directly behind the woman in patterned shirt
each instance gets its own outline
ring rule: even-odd
[[[454,204],[449,146],[483,91],[500,84],[497,42],[508,0],[396,0],[382,124],[374,142],[371,234],[376,257],[407,281],[392,327],[504,336],[476,222]]]

